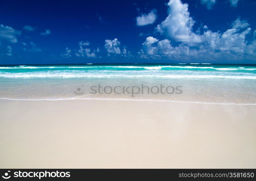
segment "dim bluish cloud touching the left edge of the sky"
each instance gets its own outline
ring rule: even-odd
[[[17,43],[17,36],[21,35],[21,32],[13,29],[10,26],[0,25],[0,40],[6,40],[11,43]]]

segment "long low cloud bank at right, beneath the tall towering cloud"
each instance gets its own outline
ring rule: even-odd
[[[241,59],[247,55],[256,55],[256,40],[247,45],[246,35],[251,28],[239,33],[239,29],[228,29],[223,34],[207,30],[201,35],[202,43],[196,47],[189,47],[184,43],[172,46],[169,39],[159,41],[154,37],[147,37],[142,43],[143,49],[138,52],[141,58],[160,58],[168,56],[172,59]],[[239,56],[237,56],[239,55]]]

